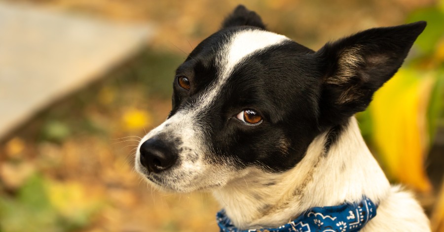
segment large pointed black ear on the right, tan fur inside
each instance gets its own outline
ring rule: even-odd
[[[373,93],[403,64],[426,22],[374,28],[333,43],[315,54],[323,70],[320,119],[344,122],[370,104]]]

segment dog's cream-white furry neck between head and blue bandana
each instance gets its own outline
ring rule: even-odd
[[[316,206],[354,202],[367,196],[377,203],[390,184],[371,155],[352,117],[325,151],[328,133],[317,136],[306,156],[284,173],[250,168],[213,195],[241,229],[273,228]]]

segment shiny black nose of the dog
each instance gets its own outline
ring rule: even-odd
[[[140,163],[150,172],[159,173],[173,166],[177,153],[157,138],[150,138],[140,146]]]

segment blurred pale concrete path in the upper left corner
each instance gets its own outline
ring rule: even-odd
[[[149,25],[0,2],[0,139],[134,55],[152,34]]]

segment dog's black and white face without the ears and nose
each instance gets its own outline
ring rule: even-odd
[[[248,166],[294,167],[318,130],[311,53],[253,27],[204,40],[177,69],[168,119],[144,138],[173,148],[177,160],[148,178],[187,191],[224,185]]]

